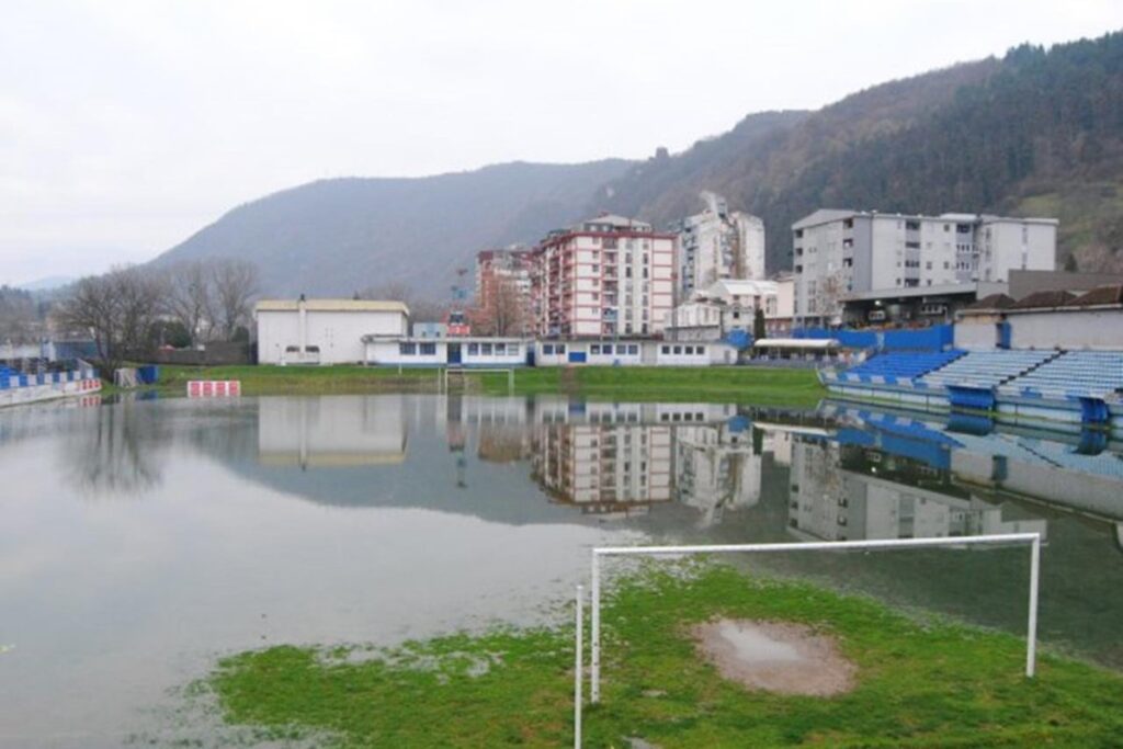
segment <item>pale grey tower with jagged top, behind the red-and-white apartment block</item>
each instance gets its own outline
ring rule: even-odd
[[[727,278],[765,277],[765,225],[756,216],[730,212],[725,200],[703,192],[706,208],[674,228],[678,249],[678,299]]]

